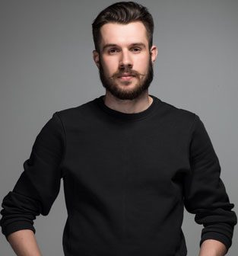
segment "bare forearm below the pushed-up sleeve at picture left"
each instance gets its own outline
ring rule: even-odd
[[[8,235],[8,242],[17,256],[41,256],[32,230],[24,229]]]

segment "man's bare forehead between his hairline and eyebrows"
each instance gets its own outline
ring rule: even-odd
[[[100,34],[101,46],[107,43],[124,45],[141,42],[148,44],[147,31],[141,21],[129,24],[107,23],[101,27]]]

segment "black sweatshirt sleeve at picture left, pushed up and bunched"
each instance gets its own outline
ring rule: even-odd
[[[65,133],[58,114],[43,126],[33,143],[24,171],[2,201],[2,233],[7,238],[21,229],[36,230],[33,220],[46,216],[59,194]]]

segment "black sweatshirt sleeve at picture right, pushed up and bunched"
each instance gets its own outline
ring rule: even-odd
[[[196,115],[189,142],[190,173],[184,184],[184,203],[195,222],[203,224],[202,242],[214,239],[223,242],[227,251],[232,244],[236,213],[231,211],[221,166],[202,120]]]

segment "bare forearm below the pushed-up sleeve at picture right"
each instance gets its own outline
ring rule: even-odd
[[[200,248],[198,256],[224,256],[227,253],[226,246],[217,240],[205,240]]]

